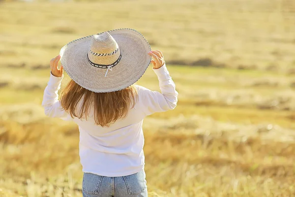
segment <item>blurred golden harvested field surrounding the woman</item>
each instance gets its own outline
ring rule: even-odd
[[[144,121],[150,197],[295,196],[294,0],[2,0],[1,197],[82,197],[78,128],[41,107],[49,62],[118,28],[163,52],[179,92]],[[159,90],[151,68],[138,84]]]

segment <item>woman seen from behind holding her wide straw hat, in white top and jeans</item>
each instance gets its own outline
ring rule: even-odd
[[[134,85],[150,63],[162,94]],[[178,95],[162,52],[136,30],[119,29],[66,44],[50,67],[42,106],[79,126],[83,197],[148,197],[143,119],[174,109]],[[58,99],[63,69],[71,81]]]

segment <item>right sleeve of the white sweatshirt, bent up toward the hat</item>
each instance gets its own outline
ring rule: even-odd
[[[166,65],[153,69],[156,73],[161,93],[140,87],[141,108],[146,116],[156,112],[172,110],[176,107],[178,93]]]

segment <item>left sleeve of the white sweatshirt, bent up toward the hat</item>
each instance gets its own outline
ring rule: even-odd
[[[71,116],[61,107],[58,91],[62,77],[56,77],[51,74],[48,84],[44,90],[42,106],[46,116],[61,118],[63,120],[71,120]]]

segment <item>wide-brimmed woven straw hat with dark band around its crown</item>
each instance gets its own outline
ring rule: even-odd
[[[150,46],[133,29],[118,29],[76,39],[61,48],[60,62],[77,84],[92,92],[124,89],[144,74]]]

